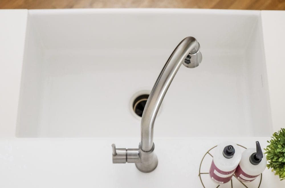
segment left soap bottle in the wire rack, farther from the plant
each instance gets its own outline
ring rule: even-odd
[[[227,183],[241,161],[241,150],[233,142],[222,142],[213,154],[210,177],[217,184]]]

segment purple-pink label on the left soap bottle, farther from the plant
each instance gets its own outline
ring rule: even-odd
[[[222,183],[227,183],[228,181],[230,181],[231,178],[233,177],[234,172],[235,172],[235,169],[233,169],[232,171],[228,171],[228,172],[218,169],[213,160],[209,173],[213,181],[215,181],[216,183],[222,184]]]

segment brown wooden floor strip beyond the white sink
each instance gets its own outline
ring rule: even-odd
[[[285,0],[0,0],[0,8],[198,8],[285,10]]]

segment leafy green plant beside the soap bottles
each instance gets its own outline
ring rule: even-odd
[[[285,179],[285,128],[281,128],[278,132],[274,132],[272,139],[267,141],[269,145],[264,149],[267,167],[275,171],[275,175],[279,175],[280,180]]]

